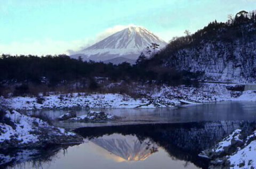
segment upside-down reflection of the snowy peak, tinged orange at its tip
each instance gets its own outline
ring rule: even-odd
[[[145,160],[157,151],[157,146],[154,142],[149,139],[141,141],[132,135],[111,134],[91,139],[90,141],[128,161]]]

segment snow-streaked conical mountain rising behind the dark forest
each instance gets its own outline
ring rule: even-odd
[[[159,44],[160,48],[167,44],[145,28],[130,26],[71,56],[75,58],[82,56],[83,60],[131,63],[151,43]]]

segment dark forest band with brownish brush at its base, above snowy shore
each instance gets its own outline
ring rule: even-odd
[[[111,92],[127,93],[131,83],[192,85],[196,83],[196,77],[187,71],[176,71],[171,67],[157,69],[157,66],[148,67],[146,63],[113,65],[82,61],[81,58],[76,60],[67,55],[0,57],[0,95],[37,95],[49,91],[102,92],[112,83],[119,85]],[[125,87],[120,87],[121,83]]]

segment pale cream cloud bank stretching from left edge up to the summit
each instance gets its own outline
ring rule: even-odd
[[[58,54],[72,54],[75,51],[89,47],[100,40],[107,38],[108,36],[121,31],[129,26],[117,25],[108,28],[94,37],[81,38],[71,41],[55,40],[51,38],[41,40],[26,40],[26,41],[13,41],[9,44],[2,44],[0,41],[0,54],[11,54],[11,55],[58,55]]]

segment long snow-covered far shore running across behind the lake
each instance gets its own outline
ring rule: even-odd
[[[13,109],[43,108],[155,108],[173,107],[180,104],[220,102],[231,100],[256,101],[255,91],[233,92],[226,85],[205,83],[201,87],[169,87],[159,90],[140,91],[143,97],[132,98],[121,94],[85,94],[49,95],[41,97],[1,98],[7,107]]]

